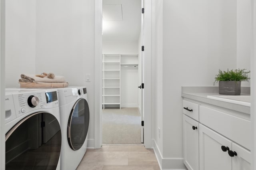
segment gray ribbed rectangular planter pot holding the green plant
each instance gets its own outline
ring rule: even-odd
[[[219,81],[220,95],[240,95],[241,81]]]

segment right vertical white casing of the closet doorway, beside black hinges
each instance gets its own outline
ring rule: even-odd
[[[151,148],[152,0],[144,1],[144,146]]]

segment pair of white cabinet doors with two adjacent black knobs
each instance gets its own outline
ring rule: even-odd
[[[200,170],[250,170],[250,151],[199,125]]]

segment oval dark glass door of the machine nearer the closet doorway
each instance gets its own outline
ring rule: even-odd
[[[84,98],[76,101],[68,119],[68,144],[78,150],[84,144],[89,127],[89,106]]]

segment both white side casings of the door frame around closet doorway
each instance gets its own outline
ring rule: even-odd
[[[151,137],[151,43],[152,0],[144,4],[144,146],[152,148]],[[94,1],[94,148],[102,146],[102,0]],[[148,106],[148,107],[147,107]]]

